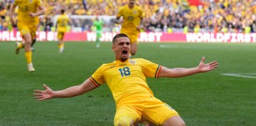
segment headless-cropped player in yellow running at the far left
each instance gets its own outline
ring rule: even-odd
[[[21,32],[24,44],[17,43],[16,52],[18,54],[21,48],[24,48],[25,57],[28,63],[28,72],[34,72],[32,65],[32,42],[36,42],[36,28],[39,24],[38,16],[45,13],[45,8],[41,0],[15,0],[10,8],[9,16],[13,26],[17,25]],[[19,7],[17,13],[17,24],[14,21],[14,10],[16,6]]]

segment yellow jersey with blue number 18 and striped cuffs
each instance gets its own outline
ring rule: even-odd
[[[143,58],[103,64],[89,77],[97,87],[107,83],[117,106],[135,98],[153,97],[146,77],[158,77],[161,65]]]

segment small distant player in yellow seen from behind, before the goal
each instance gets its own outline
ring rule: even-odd
[[[70,18],[65,15],[65,10],[61,10],[61,15],[58,16],[57,22],[55,25],[55,29],[57,29],[57,38],[58,38],[58,52],[62,53],[64,50],[64,43],[63,39],[66,33],[66,29],[68,27],[68,24],[70,24]]]

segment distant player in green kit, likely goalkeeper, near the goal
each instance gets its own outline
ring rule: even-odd
[[[100,47],[100,38],[102,37],[102,27],[103,20],[100,20],[98,16],[96,16],[96,20],[93,21],[93,26],[96,28],[96,47]]]

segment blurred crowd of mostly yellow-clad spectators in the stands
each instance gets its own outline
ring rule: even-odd
[[[0,0],[1,31],[13,30],[8,16],[12,2],[13,0]],[[69,16],[115,16],[119,7],[127,2],[128,0],[43,0],[47,13],[40,17],[39,31],[55,30],[54,17],[61,9],[66,9]],[[137,5],[141,6],[145,14],[145,31],[256,32],[255,0],[137,0]],[[72,27],[90,31],[92,20],[72,18]],[[107,31],[113,31],[116,25],[110,21],[105,27]]]

